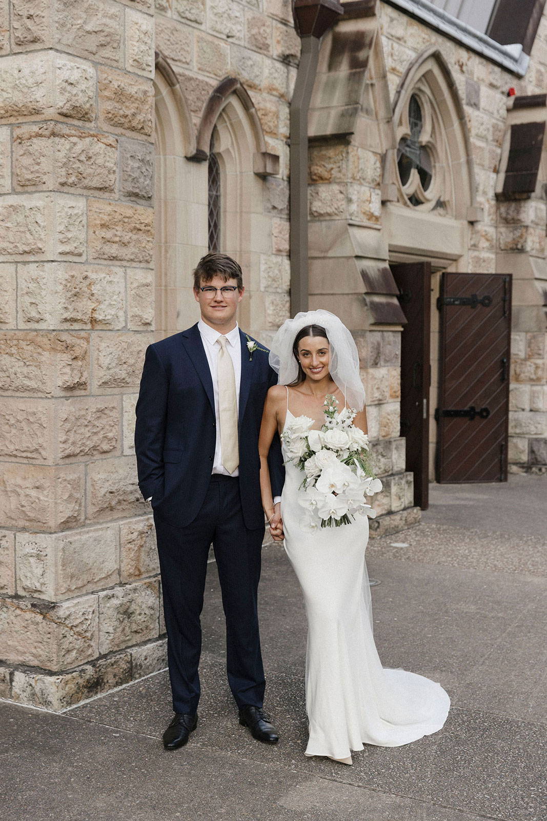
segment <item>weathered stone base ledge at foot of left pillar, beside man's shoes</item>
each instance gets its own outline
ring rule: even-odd
[[[164,669],[166,644],[165,638],[140,644],[59,675],[31,667],[0,667],[0,698],[60,713]]]

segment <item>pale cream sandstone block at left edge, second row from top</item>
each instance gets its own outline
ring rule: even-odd
[[[47,53],[3,57],[0,119],[7,122],[45,113],[52,102],[51,57]]]

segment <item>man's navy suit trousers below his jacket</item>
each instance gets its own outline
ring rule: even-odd
[[[212,544],[226,617],[226,669],[238,707],[262,707],[265,680],[258,632],[264,527],[248,530],[239,497],[239,479],[212,475],[198,516],[177,528],[154,514],[162,574],[167,659],[175,713],[195,713],[200,686],[200,614]]]

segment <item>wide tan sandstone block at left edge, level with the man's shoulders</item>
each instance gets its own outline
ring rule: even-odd
[[[86,334],[0,332],[0,390],[61,396],[88,384]]]

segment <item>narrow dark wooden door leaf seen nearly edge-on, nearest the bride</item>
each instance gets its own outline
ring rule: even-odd
[[[429,388],[431,384],[431,264],[390,266],[407,318],[401,337],[401,436],[406,439],[406,470],[414,475],[414,504],[429,499]]]

